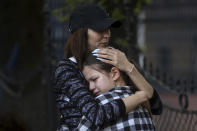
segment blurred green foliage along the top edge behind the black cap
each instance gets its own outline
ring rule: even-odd
[[[69,19],[70,13],[76,6],[82,3],[87,2],[94,2],[100,5],[101,7],[104,7],[105,9],[108,9],[108,12],[112,15],[113,18],[124,20],[125,18],[125,11],[124,11],[124,5],[123,0],[64,0],[66,3],[66,6],[63,8],[55,9],[53,11],[53,15],[57,16],[61,22],[66,22]],[[135,3],[133,5],[133,15],[137,15],[142,8],[150,4],[152,0],[135,0],[132,1],[132,3]],[[67,12],[66,14],[64,12]]]

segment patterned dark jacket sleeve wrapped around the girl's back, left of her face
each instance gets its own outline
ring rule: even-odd
[[[56,86],[67,95],[95,127],[102,127],[125,114],[125,105],[121,99],[101,105],[89,91],[85,78],[78,68],[64,63],[55,72]]]

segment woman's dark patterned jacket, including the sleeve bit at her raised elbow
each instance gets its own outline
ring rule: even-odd
[[[117,120],[125,114],[126,109],[121,99],[101,105],[88,89],[88,82],[77,64],[69,59],[58,63],[55,71],[55,91],[57,104],[61,114],[60,126],[66,125],[74,130],[83,115],[98,129]],[[151,110],[153,114],[162,112],[162,104],[156,91],[152,97]]]

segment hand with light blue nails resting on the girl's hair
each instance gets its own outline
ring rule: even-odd
[[[132,63],[129,62],[126,55],[115,48],[101,48],[96,51],[95,56],[101,58],[102,62],[116,66],[124,72],[130,72]]]

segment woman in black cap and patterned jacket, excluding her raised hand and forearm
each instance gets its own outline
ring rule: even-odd
[[[55,71],[55,89],[61,114],[59,130],[74,130],[83,115],[95,129],[100,129],[130,112],[130,96],[100,105],[89,91],[88,82],[81,72],[88,53],[95,48],[106,47],[111,36],[109,28],[119,26],[119,21],[110,18],[95,4],[79,6],[71,14],[66,57],[58,63]],[[124,65],[121,66],[124,68]]]

